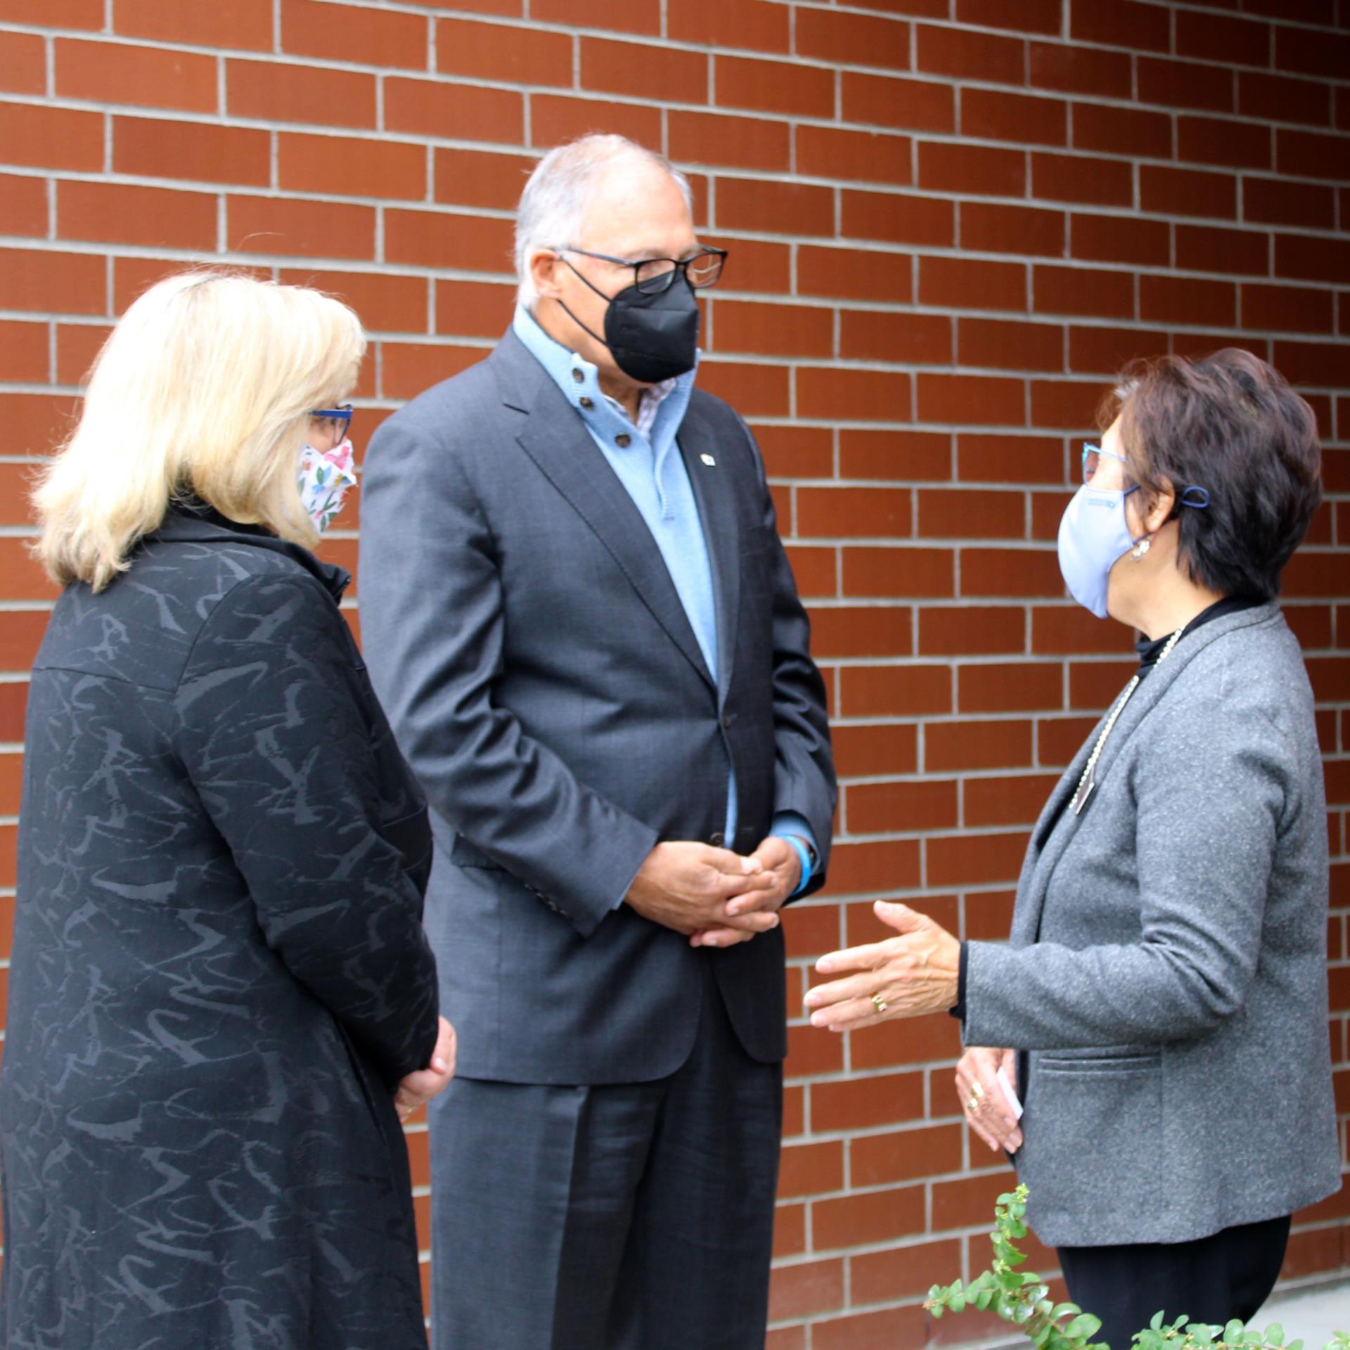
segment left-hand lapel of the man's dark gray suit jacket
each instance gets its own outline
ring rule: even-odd
[[[526,413],[516,437],[521,450],[594,531],[671,641],[716,688],[666,559],[586,424],[514,333],[506,335],[494,355],[502,401]]]

